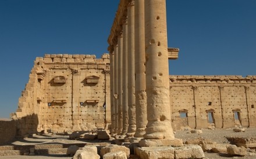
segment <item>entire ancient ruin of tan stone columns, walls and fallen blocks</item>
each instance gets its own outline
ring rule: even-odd
[[[175,138],[173,130],[179,129],[255,128],[256,76],[169,75],[168,59],[177,59],[179,49],[167,45],[165,0],[120,0],[108,43],[109,54],[101,59],[37,57],[13,121],[0,122],[0,136],[12,124],[12,135],[1,141],[65,133],[70,139],[122,144],[98,151],[99,146],[67,149],[63,144],[61,150],[74,158],[127,158],[130,152],[140,158],[203,158],[207,146],[247,153],[244,147],[183,145]],[[255,141],[237,146],[241,143],[255,146]],[[30,148],[31,154],[41,151]]]

